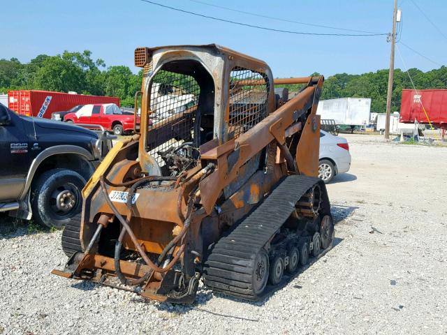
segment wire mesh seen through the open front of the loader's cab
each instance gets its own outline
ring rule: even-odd
[[[159,70],[149,89],[152,125],[147,145],[149,154],[163,166],[163,153],[193,140],[200,87],[190,75]]]

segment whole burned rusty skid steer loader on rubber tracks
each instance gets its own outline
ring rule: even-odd
[[[318,175],[323,77],[274,79],[218,45],[139,47],[140,124],[84,190],[54,274],[192,303],[198,281],[258,299],[332,246]],[[289,101],[274,84],[302,84]],[[270,284],[270,285],[268,285]]]

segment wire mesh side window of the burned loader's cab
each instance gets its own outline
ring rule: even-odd
[[[265,74],[233,68],[230,73],[230,135],[239,137],[267,116],[268,91]]]

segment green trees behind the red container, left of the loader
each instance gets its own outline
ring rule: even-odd
[[[122,106],[133,106],[135,91],[141,89],[142,70],[132,73],[128,66],[106,67],[102,59],[92,59],[91,52],[65,51],[57,56],[39,54],[29,63],[16,58],[0,59],[0,92],[9,89],[117,96]]]

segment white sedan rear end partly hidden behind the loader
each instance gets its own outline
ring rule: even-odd
[[[336,174],[348,172],[351,154],[346,138],[320,131],[320,163],[318,177],[328,184]]]

